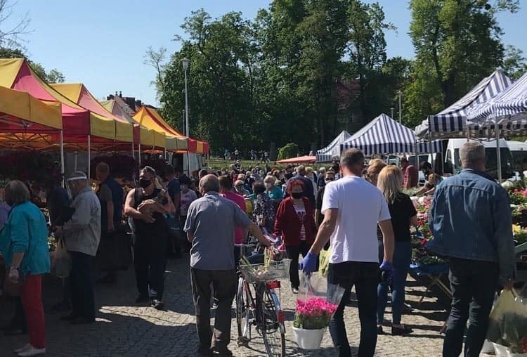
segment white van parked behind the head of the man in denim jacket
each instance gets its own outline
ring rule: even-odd
[[[487,157],[486,174],[493,178],[497,178],[496,140],[483,138],[471,139],[471,141],[481,143],[485,146]],[[467,139],[448,139],[448,145],[445,152],[445,174],[457,174],[461,171],[460,148],[464,143],[467,143]],[[505,139],[500,139],[500,154],[502,162],[502,178],[514,176],[512,155]]]

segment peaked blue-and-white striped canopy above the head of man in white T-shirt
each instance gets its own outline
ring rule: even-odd
[[[441,152],[441,141],[418,143],[412,129],[381,114],[340,145],[341,152],[358,148],[364,155]],[[417,144],[417,146],[416,146]]]

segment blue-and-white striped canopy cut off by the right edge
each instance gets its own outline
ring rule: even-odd
[[[525,119],[522,113],[527,112],[527,73],[511,84],[494,98],[474,106],[469,110],[467,119],[469,125],[488,122],[506,124],[521,124]],[[503,117],[502,119],[498,119]],[[520,121],[520,122],[519,122]]]

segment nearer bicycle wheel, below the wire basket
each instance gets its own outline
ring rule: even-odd
[[[280,317],[279,317],[280,316]],[[285,356],[285,326],[280,299],[266,288],[261,301],[261,337],[270,357]]]

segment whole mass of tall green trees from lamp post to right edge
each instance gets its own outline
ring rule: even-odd
[[[274,0],[254,20],[193,11],[175,41],[148,48],[162,114],[182,129],[181,60],[190,59],[190,136],[215,152],[297,143],[320,148],[339,131],[356,131],[393,108],[412,126],[464,95],[497,67],[517,77],[525,61],[506,49],[495,19],[517,0],[410,0],[415,59],[387,58],[396,30],[382,6],[361,0]],[[295,152],[294,155],[297,155]]]

